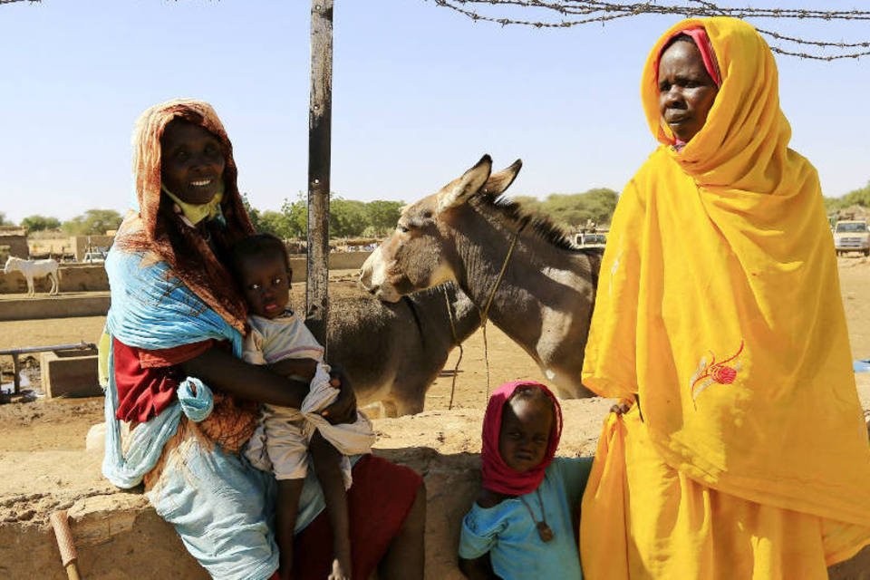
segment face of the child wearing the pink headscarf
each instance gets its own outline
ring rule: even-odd
[[[510,469],[534,469],[544,460],[552,430],[553,408],[547,401],[510,399],[501,415],[498,453]]]

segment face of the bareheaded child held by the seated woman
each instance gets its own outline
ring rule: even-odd
[[[284,314],[290,301],[290,272],[284,256],[247,256],[238,266],[239,285],[251,314],[275,318]]]

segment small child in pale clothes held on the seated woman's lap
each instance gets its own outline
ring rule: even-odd
[[[275,536],[281,555],[280,574],[290,577],[296,514],[310,458],[333,528],[333,571],[329,578],[350,578],[345,489],[351,487],[352,479],[347,456],[371,451],[372,424],[362,414],[353,423],[336,425],[321,415],[339,391],[330,384],[324,348],[303,320],[287,309],[292,269],[284,243],[266,234],[246,237],[232,247],[230,265],[249,311],[244,360],[267,364],[278,374],[311,384],[298,411],[263,406],[259,426],[246,450],[257,468],[272,471],[277,479]]]

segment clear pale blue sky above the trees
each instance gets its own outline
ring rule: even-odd
[[[178,96],[216,107],[255,207],[295,199],[307,179],[309,12],[307,0],[0,6],[0,211],[19,221],[127,208],[133,121]],[[335,0],[332,189],[412,201],[484,153],[497,167],[524,160],[515,195],[622,189],[655,146],[641,67],[677,20],[546,31],[473,23],[424,0]],[[849,23],[755,24],[868,35]],[[870,58],[778,63],[792,147],[826,196],[864,187]]]

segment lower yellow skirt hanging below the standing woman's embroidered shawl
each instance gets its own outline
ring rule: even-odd
[[[637,408],[611,414],[583,499],[589,580],[826,580],[866,527],[780,509],[709,488],[672,469]]]

